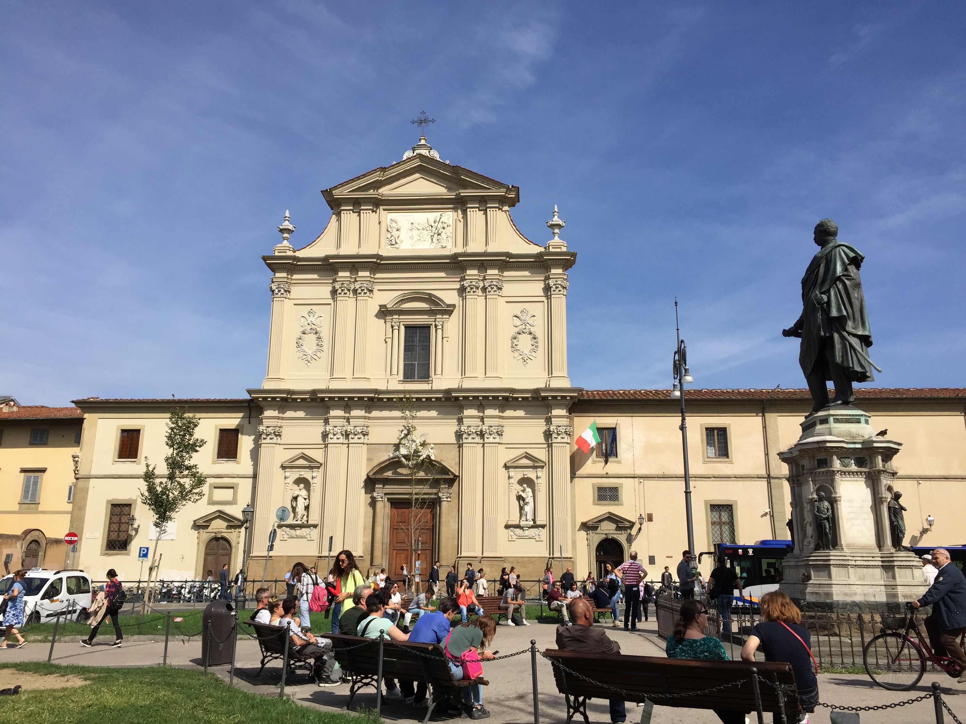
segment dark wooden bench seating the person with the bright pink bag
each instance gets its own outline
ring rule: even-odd
[[[335,633],[326,637],[332,642],[333,655],[342,669],[342,681],[349,683],[349,702],[366,686],[375,688],[379,677],[379,641]],[[363,646],[362,644],[368,645]],[[454,682],[449,663],[442,648],[436,644],[383,642],[383,677],[405,682],[423,682],[429,687],[429,707],[423,724],[429,721],[433,709],[470,683],[488,685],[490,682],[478,677],[473,681]]]

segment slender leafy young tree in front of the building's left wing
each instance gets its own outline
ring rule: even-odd
[[[198,428],[198,418],[188,415],[186,408],[173,409],[168,416],[167,433],[164,442],[168,447],[168,454],[164,456],[167,472],[163,477],[156,474],[157,465],[152,465],[148,457],[144,458],[144,489],[139,490],[141,502],[151,511],[157,529],[155,550],[151,555],[151,566],[148,568],[148,590],[145,601],[151,595],[151,571],[155,570],[157,547],[164,537],[168,523],[175,519],[175,515],[188,503],[197,503],[205,494],[205,476],[198,470],[198,466],[191,461],[205,444],[205,440],[194,436]],[[144,612],[144,603],[141,605]]]

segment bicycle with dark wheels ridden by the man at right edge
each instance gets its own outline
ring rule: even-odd
[[[916,623],[911,603],[906,603],[905,621],[898,616],[883,616],[883,631],[873,636],[862,653],[862,661],[869,679],[890,691],[908,691],[923,679],[925,664],[931,661],[954,678],[961,676],[959,665],[949,656],[934,654],[929,648],[928,637]],[[899,633],[898,629],[902,629]],[[909,634],[914,631],[916,637]],[[966,633],[959,639],[963,645]]]

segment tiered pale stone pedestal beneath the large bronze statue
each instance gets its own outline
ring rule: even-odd
[[[837,405],[807,417],[798,442],[779,453],[788,465],[795,543],[780,589],[800,606],[888,610],[923,595],[922,562],[895,550],[890,536],[887,503],[901,447],[875,436],[864,410]],[[831,508],[831,541],[816,522],[819,493]]]

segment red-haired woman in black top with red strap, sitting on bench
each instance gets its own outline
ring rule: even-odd
[[[785,661],[791,664],[802,709],[813,711],[818,702],[816,664],[811,655],[811,634],[801,625],[802,612],[781,591],[761,597],[761,621],[752,628],[752,635],[741,649],[743,661],[754,661],[754,652],[761,647],[766,661]],[[775,722],[781,721],[775,714]],[[803,714],[800,724],[807,724],[809,715]]]

